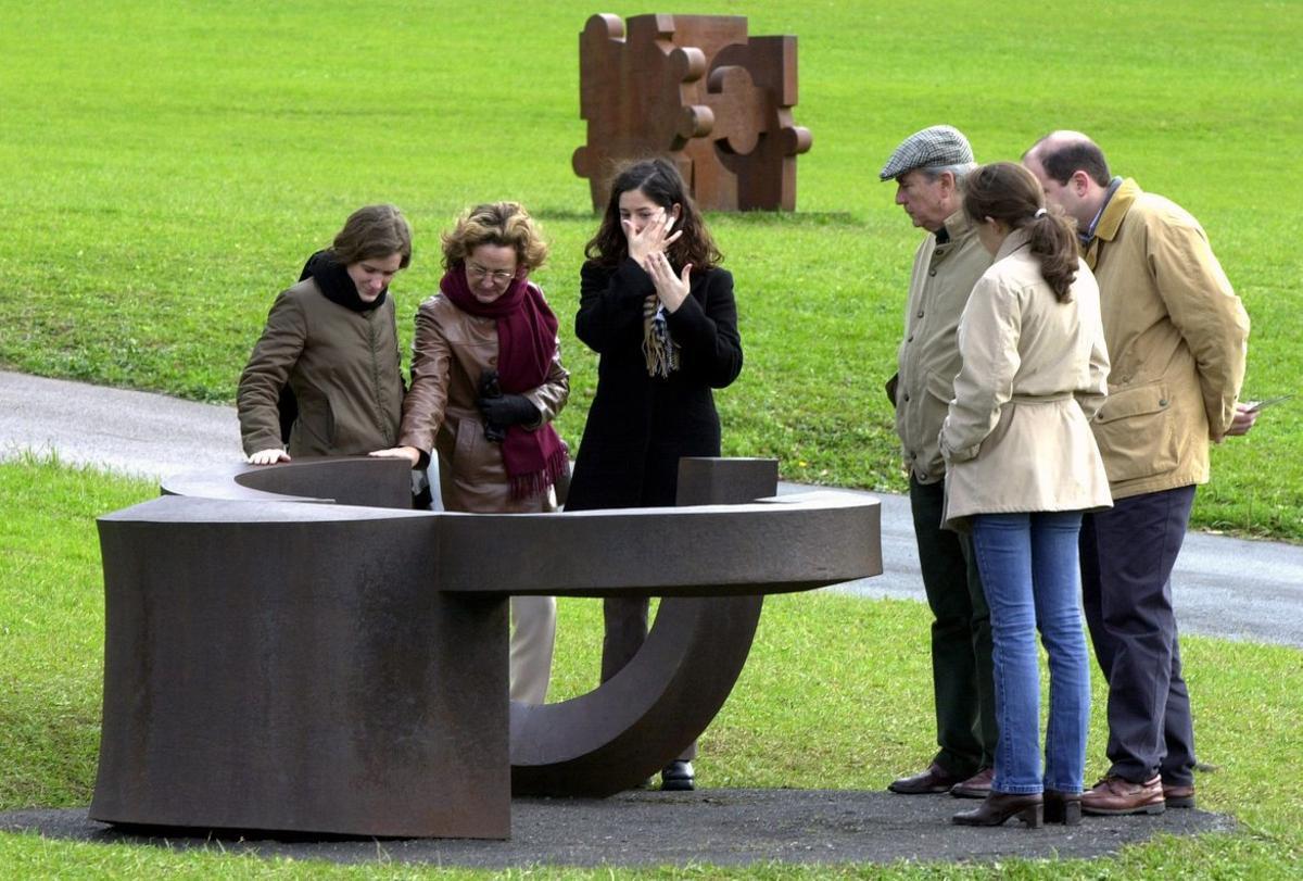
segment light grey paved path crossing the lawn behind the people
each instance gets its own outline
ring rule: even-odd
[[[0,371],[0,457],[22,450],[164,477],[238,459],[240,431],[231,407]],[[908,500],[876,495],[885,572],[830,589],[923,599]],[[1184,632],[1303,648],[1303,546],[1190,533],[1173,590]]]

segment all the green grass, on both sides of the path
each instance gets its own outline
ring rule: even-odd
[[[573,395],[560,429],[576,442],[595,381],[569,322],[595,225],[569,168],[584,141],[577,33],[593,12],[649,9],[0,0],[0,368],[229,401],[272,297],[352,209],[392,201],[412,218],[417,253],[394,287],[407,315],[439,278],[437,233],[473,202],[515,198],[554,245],[539,280],[562,315]],[[741,379],[719,395],[727,454],[778,456],[791,480],[903,487],[881,384],[920,233],[877,171],[903,136],[936,123],[963,129],[980,160],[1016,158],[1053,128],[1095,136],[1117,172],[1208,229],[1253,319],[1246,396],[1299,390],[1303,259],[1287,235],[1303,205],[1303,3],[775,0],[691,12],[797,34],[795,117],[814,134],[796,214],[710,219],[747,347]],[[1303,404],[1269,411],[1214,451],[1213,468],[1199,525],[1303,540]],[[154,493],[0,465],[0,809],[89,799],[103,650],[93,517]],[[919,603],[766,603],[752,661],[702,740],[701,783],[876,788],[912,769],[932,743],[926,623]],[[595,678],[598,633],[595,605],[563,606],[559,693]],[[1201,804],[1234,813],[1235,834],[1091,863],[886,874],[1303,874],[1299,653],[1184,648],[1200,752],[1222,766],[1200,778]],[[1096,699],[1088,774],[1104,770],[1098,683]],[[0,835],[0,871],[396,874],[26,835]]]

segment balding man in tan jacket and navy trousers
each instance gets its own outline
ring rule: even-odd
[[[1194,723],[1169,576],[1195,486],[1208,482],[1209,442],[1256,418],[1237,403],[1248,315],[1199,222],[1113,177],[1088,137],[1054,132],[1023,164],[1076,219],[1113,364],[1092,427],[1114,507],[1081,524],[1083,605],[1109,680],[1111,766],[1081,809],[1192,807]]]

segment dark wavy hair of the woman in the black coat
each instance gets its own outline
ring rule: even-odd
[[[679,220],[674,229],[683,235],[666,252],[672,266],[681,268],[692,263],[692,270],[697,272],[713,270],[723,261],[723,254],[715,248],[696,202],[688,194],[683,176],[668,159],[644,159],[619,169],[611,182],[611,198],[606,203],[602,225],[584,246],[584,255],[588,259],[601,266],[619,266],[629,255],[629,242],[620,227],[620,195],[629,190],[641,190],[666,211],[675,205],[680,206]]]

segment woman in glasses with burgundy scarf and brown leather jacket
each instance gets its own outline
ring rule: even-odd
[[[550,422],[569,396],[556,317],[529,280],[547,257],[516,202],[470,209],[443,236],[439,296],[416,317],[412,388],[399,446],[371,455],[418,467],[439,456],[443,507],[542,513],[569,465]],[[511,601],[511,697],[542,704],[551,672],[556,601]]]

